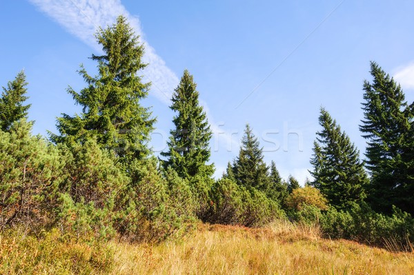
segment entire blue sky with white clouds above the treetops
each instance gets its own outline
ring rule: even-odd
[[[152,146],[163,150],[174,115],[168,105],[184,69],[194,75],[214,131],[211,160],[220,175],[250,123],[284,178],[302,183],[311,169],[319,108],[324,106],[364,152],[358,130],[362,83],[377,61],[414,100],[413,1],[0,1],[0,85],[24,69],[34,133],[74,114],[66,88],[99,53],[93,34],[118,14],[146,45],[142,72],[152,81],[158,118]]]

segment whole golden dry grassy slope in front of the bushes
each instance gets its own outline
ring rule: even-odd
[[[161,245],[0,236],[0,274],[414,274],[413,253],[319,238],[315,228],[201,225]]]

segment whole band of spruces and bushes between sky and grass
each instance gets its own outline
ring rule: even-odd
[[[212,132],[193,76],[184,71],[172,95],[168,150],[148,145],[156,118],[141,105],[150,83],[140,72],[144,46],[124,17],[97,32],[97,75],[81,66],[86,88],[68,88],[81,113],[62,114],[58,134],[31,134],[26,76],[0,98],[0,227],[32,234],[53,227],[68,238],[159,241],[197,224],[265,225],[279,218],[318,223],[331,237],[381,243],[413,240],[414,103],[371,62],[364,82],[366,162],[321,109],[313,147],[313,181],[284,181],[246,125],[239,155],[213,179]],[[368,172],[367,172],[368,170]]]

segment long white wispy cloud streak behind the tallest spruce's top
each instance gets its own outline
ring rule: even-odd
[[[105,28],[115,23],[117,17],[122,14],[134,28],[144,43],[144,63],[148,63],[144,70],[144,77],[152,82],[151,93],[163,103],[170,104],[172,91],[177,86],[179,79],[172,72],[154,48],[144,39],[143,32],[137,17],[132,16],[119,0],[29,0],[42,12],[57,21],[68,32],[75,35],[94,50],[101,51],[96,42],[95,33],[99,26]]]

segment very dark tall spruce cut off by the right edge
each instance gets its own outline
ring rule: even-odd
[[[392,205],[414,213],[414,103],[380,66],[371,62],[373,82],[364,81],[364,120],[359,130],[367,141],[366,167],[373,208],[391,212]]]

